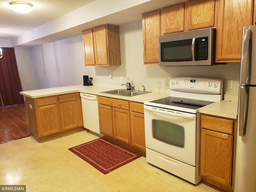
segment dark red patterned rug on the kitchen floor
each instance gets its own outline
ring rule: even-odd
[[[74,154],[107,174],[139,157],[140,154],[114,144],[104,138],[69,148]]]

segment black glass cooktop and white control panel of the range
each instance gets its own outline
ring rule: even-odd
[[[199,109],[222,100],[223,80],[177,77],[170,80],[170,96],[144,102],[145,105],[196,114]]]

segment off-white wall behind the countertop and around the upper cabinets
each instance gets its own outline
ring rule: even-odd
[[[129,77],[136,87],[157,88],[156,81],[162,81],[162,88],[168,88],[167,77],[199,76],[224,79],[224,93],[238,95],[240,63],[228,63],[218,66],[178,66],[160,67],[143,65],[142,21],[120,25],[121,66],[84,66],[82,35],[36,46],[32,48],[35,84],[28,82],[27,74],[20,71],[27,62],[18,57],[18,67],[24,90],[50,88],[82,84],[83,75],[94,75],[94,82],[121,84]],[[23,48],[16,48],[22,52]],[[114,76],[111,82],[109,75]],[[26,77],[24,77],[26,76]],[[226,90],[226,80],[234,80],[234,89]],[[31,80],[33,77],[31,76]]]

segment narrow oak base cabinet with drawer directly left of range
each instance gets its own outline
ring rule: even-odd
[[[130,102],[131,145],[146,152],[144,104]]]

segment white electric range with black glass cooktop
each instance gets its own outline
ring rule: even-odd
[[[178,77],[168,97],[144,102],[146,161],[193,184],[199,176],[199,109],[222,100],[223,80]]]

